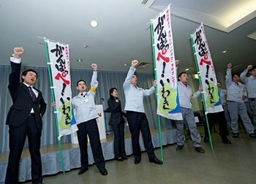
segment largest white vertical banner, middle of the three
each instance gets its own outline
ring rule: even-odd
[[[170,23],[170,5],[151,20],[152,46],[157,78],[157,115],[182,120]]]

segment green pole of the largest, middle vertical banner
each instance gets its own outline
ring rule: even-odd
[[[155,55],[154,55],[154,34],[153,34],[153,24],[150,25],[151,28],[151,39],[152,39],[152,48],[153,48],[153,58],[154,58],[154,79],[157,80],[157,72],[156,72],[156,61],[155,61]],[[158,101],[158,86],[156,88],[157,91],[157,101]],[[161,120],[160,116],[157,115],[157,121],[158,121],[158,127],[159,127],[159,143],[160,143],[160,154],[161,154],[161,160],[164,160],[163,153],[162,153],[162,129],[161,129]]]

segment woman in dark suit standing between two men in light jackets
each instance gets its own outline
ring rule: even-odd
[[[114,154],[116,161],[127,159],[124,149],[124,117],[126,114],[121,111],[121,101],[118,99],[116,88],[111,88],[109,91],[110,98],[108,99],[108,107],[110,109],[109,125],[114,133]]]

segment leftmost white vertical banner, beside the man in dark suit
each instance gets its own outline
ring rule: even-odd
[[[69,45],[46,40],[50,66],[50,78],[52,81],[54,101],[56,102],[56,120],[58,121],[59,137],[72,134],[78,128],[72,111],[70,68],[69,68]]]

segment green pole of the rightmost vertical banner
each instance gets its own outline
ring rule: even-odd
[[[196,68],[197,68],[197,74],[198,74],[199,85],[200,85],[200,86],[203,86],[203,85],[202,85],[201,76],[200,76],[200,72],[199,72],[198,63],[197,63],[197,56],[196,56],[196,53],[195,53],[194,40],[193,40],[192,34],[190,35],[190,41],[191,41],[190,43],[191,43],[191,47],[192,47],[192,50],[193,50],[193,55],[194,55],[194,58],[195,58],[195,66],[196,66]],[[203,87],[202,87],[202,88],[203,88]],[[207,125],[207,130],[208,130],[210,145],[211,145],[211,149],[214,149],[214,144],[213,144],[212,139],[211,139],[210,126],[209,126],[208,118],[207,118],[205,96],[204,96],[203,93],[201,93],[201,96],[202,96],[202,99],[203,99],[203,109],[205,110],[205,115],[206,115],[206,125]]]

